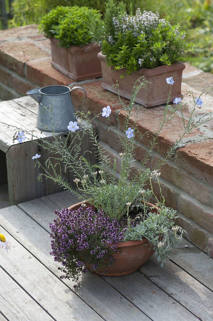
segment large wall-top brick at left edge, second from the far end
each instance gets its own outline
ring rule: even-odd
[[[1,64],[14,70],[21,76],[24,76],[24,65],[26,62],[48,56],[49,54],[46,51],[38,48],[31,42],[11,41],[0,44]]]

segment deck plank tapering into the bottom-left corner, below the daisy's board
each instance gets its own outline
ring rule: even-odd
[[[9,252],[8,255],[10,255]],[[0,284],[1,312],[9,320],[53,321],[53,318],[14,282],[2,268],[0,268]],[[1,316],[0,314],[0,320],[6,320],[4,317],[1,319]]]

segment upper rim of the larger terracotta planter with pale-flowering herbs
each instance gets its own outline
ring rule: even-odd
[[[100,51],[98,53],[97,57],[100,60],[106,61],[106,56],[102,54],[102,51]],[[113,66],[112,66],[112,68],[113,68]],[[122,68],[122,69],[126,70],[126,68]],[[166,69],[166,71],[165,71],[165,69]],[[143,68],[140,68],[137,71],[135,71],[135,73],[136,74],[140,74],[140,75],[144,73],[144,76],[150,77],[150,76],[153,76],[153,75],[164,74],[166,72],[172,72],[173,70],[177,70],[177,69],[184,70],[185,69],[185,64],[183,62],[177,62],[177,63],[171,64],[169,66],[168,65],[162,65],[162,66],[154,67],[154,68],[151,68],[151,69],[143,67]]]

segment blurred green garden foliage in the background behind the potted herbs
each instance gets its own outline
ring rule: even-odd
[[[49,10],[57,5],[88,6],[104,10],[106,0],[14,0],[14,17],[10,26],[39,23]],[[191,56],[192,64],[213,73],[213,1],[212,0],[124,0],[134,8],[158,11],[162,18],[180,24],[186,30],[186,40],[198,45]]]

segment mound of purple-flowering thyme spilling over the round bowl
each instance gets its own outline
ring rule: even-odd
[[[91,207],[54,211],[58,218],[50,224],[51,255],[60,262],[61,278],[79,280],[81,273],[113,265],[116,244],[123,241],[121,222]],[[78,281],[79,282],[79,281]]]

